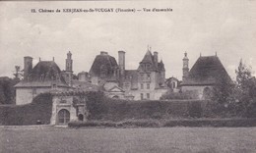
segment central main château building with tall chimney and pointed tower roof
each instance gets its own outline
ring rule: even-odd
[[[148,49],[137,70],[126,70],[124,51],[118,51],[118,64],[101,51],[89,72],[92,83],[103,86],[112,98],[158,100],[167,91],[164,64],[159,62],[158,54]]]

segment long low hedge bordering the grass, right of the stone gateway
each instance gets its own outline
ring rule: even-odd
[[[256,127],[256,119],[179,119],[179,120],[127,120],[121,122],[70,122],[70,128],[166,128],[166,127]]]

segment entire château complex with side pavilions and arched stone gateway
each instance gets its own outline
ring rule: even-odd
[[[218,56],[200,56],[189,70],[187,53],[183,58],[182,81],[165,79],[159,53],[146,51],[136,70],[126,70],[125,52],[118,51],[118,63],[107,52],[96,55],[90,72],[73,74],[72,53],[67,53],[66,68],[61,71],[52,61],[41,61],[33,67],[32,57],[24,58],[24,79],[15,85],[16,104],[24,105],[45,92],[51,92],[51,125],[66,125],[71,120],[87,120],[86,91],[101,90],[110,98],[159,100],[167,91],[196,91],[199,99],[207,99],[220,79],[231,81]]]

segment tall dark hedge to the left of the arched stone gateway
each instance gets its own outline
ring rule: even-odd
[[[43,93],[36,96],[32,103],[26,105],[0,105],[0,125],[25,126],[50,124],[52,114],[52,95]]]

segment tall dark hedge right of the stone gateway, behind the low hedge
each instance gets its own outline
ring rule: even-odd
[[[88,94],[89,120],[123,121],[128,119],[200,118],[201,100],[121,100],[104,97],[102,93]]]

